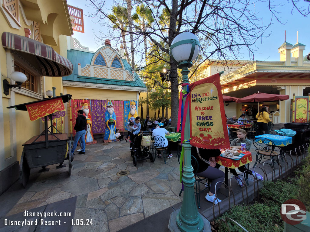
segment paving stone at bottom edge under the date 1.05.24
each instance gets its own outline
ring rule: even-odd
[[[87,217],[87,218],[86,218]],[[73,232],[108,232],[108,219],[104,210],[76,208],[74,219],[92,219],[93,225],[73,226]]]

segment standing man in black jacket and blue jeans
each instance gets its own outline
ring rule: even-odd
[[[85,135],[86,135],[86,118],[83,115],[83,110],[78,110],[77,121],[75,122],[74,130],[76,131],[73,147],[71,149],[71,153],[74,155],[74,150],[78,145],[78,141],[80,140],[81,151],[79,154],[85,154]]]

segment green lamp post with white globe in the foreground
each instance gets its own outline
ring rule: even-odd
[[[189,83],[188,81],[188,68],[193,66],[198,53],[200,51],[200,43],[198,38],[190,32],[183,32],[175,37],[169,48],[169,53],[172,59],[178,64],[178,68],[182,69],[182,80],[183,84]],[[183,87],[183,90],[187,90],[187,86]],[[184,128],[184,140],[189,140],[190,138],[190,127],[189,127],[189,111],[183,113],[184,118],[186,117],[186,125]],[[191,145],[189,142],[183,143],[184,148],[184,166],[183,166],[183,177],[182,181],[184,184],[184,195],[182,206],[179,213],[176,215],[176,225],[180,231],[203,231],[208,230],[204,228],[204,221],[200,213],[198,213],[197,205],[195,202],[194,195],[194,183],[195,178],[193,174],[193,167],[191,163]],[[173,226],[170,225],[169,229]],[[210,225],[210,224],[209,224]]]

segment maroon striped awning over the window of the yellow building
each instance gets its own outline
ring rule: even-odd
[[[72,73],[72,63],[48,45],[10,32],[2,33],[2,45],[7,49],[35,55],[42,76],[67,76]]]

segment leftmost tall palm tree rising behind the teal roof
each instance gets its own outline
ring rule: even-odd
[[[127,30],[125,25],[128,23],[128,19],[126,16],[127,9],[123,6],[117,5],[117,6],[113,6],[112,12],[113,14],[108,15],[108,17],[114,24],[113,28],[115,29],[121,28],[121,36],[123,39],[126,59],[127,59],[127,62],[130,63],[130,59],[129,59],[129,55],[127,51],[126,39],[125,39],[125,30]]]

